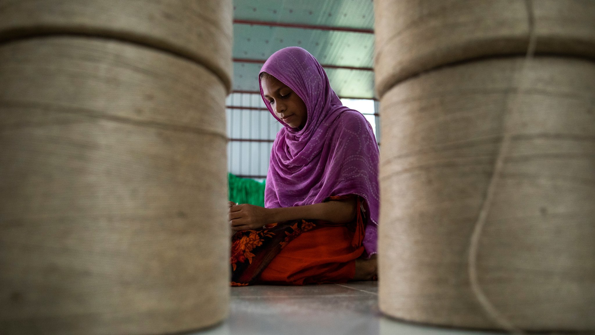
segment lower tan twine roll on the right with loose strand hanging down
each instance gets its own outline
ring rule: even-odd
[[[523,62],[444,67],[383,96],[385,314],[502,328],[497,312],[517,329],[595,329],[595,63]],[[470,269],[505,134],[510,144]]]

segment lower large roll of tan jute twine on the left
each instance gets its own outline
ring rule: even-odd
[[[226,317],[218,77],[144,46],[46,36],[0,46],[0,83],[0,333]]]

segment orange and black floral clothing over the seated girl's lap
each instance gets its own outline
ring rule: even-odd
[[[331,197],[330,200],[346,196]],[[232,237],[231,285],[345,283],[364,253],[361,199],[349,224],[295,220]]]

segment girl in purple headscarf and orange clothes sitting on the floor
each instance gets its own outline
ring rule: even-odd
[[[261,96],[283,124],[265,207],[230,204],[233,286],[345,283],[377,273],[378,145],[364,115],[341,104],[302,48],[275,52]]]

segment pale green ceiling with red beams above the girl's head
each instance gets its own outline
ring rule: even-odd
[[[372,1],[234,0],[233,89],[258,91],[262,62],[300,46],[328,65],[337,95],[374,98],[373,26]]]

